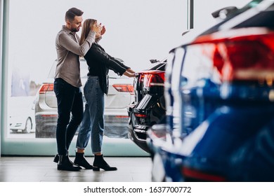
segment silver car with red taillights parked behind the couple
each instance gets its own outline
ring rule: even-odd
[[[89,72],[85,59],[80,60],[80,66],[81,82],[84,87],[86,74]],[[53,91],[55,71],[56,61],[51,67],[48,78],[37,92],[35,100],[35,137],[37,138],[56,137],[58,111],[56,94]],[[128,132],[127,122],[129,120],[126,106],[133,102],[133,79],[126,76],[117,76],[117,73],[112,70],[109,72],[109,78],[110,87],[108,95],[105,95],[105,135],[107,137],[126,138]]]

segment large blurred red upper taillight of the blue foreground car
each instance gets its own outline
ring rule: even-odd
[[[203,54],[213,59],[221,81],[258,80],[268,85],[274,80],[274,32],[266,29],[232,31],[198,38]],[[222,37],[223,36],[223,37]],[[209,43],[209,44],[207,44]],[[210,45],[213,43],[214,47]]]

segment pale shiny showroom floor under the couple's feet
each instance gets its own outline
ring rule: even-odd
[[[87,158],[93,162],[93,157]],[[72,157],[71,160],[74,160]],[[0,182],[150,182],[149,157],[106,157],[115,172],[59,171],[52,157],[1,157]]]

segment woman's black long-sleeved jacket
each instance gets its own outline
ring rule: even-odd
[[[122,62],[115,59],[105,52],[98,43],[93,43],[91,48],[84,56],[86,63],[89,65],[88,76],[98,76],[102,91],[108,92],[108,76],[109,69],[115,71],[119,76],[122,76],[129,66],[125,66]]]

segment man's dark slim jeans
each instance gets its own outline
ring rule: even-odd
[[[62,78],[54,80],[54,92],[58,104],[57,151],[58,155],[67,155],[70,143],[83,118],[83,95],[79,87],[70,85]]]

